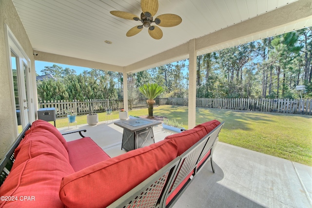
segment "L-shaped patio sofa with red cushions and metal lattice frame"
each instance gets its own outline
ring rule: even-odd
[[[66,142],[37,120],[1,159],[0,208],[171,207],[208,158],[214,171],[223,124],[206,122],[110,158],[90,137]]]

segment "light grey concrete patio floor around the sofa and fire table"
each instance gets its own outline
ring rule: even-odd
[[[123,129],[113,122],[78,125],[78,129],[86,129],[83,134],[111,157],[126,152],[121,150]],[[76,126],[59,128],[62,133],[73,130]],[[153,130],[156,142],[175,133],[161,125]],[[67,141],[80,138],[78,134],[64,137]],[[312,167],[222,142],[217,143],[213,157],[215,173],[207,163],[174,208],[312,207]]]

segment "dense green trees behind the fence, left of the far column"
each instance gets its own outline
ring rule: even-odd
[[[54,64],[41,70],[45,78],[37,81],[40,100],[117,99],[117,89],[111,72],[97,69],[85,70],[77,75],[73,69]]]

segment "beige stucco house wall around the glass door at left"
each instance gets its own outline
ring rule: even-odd
[[[31,76],[36,80],[33,48],[11,0],[0,0],[0,158],[16,139],[15,114],[13,113],[12,90],[10,89],[10,62],[6,42],[5,24],[20,42],[27,56],[31,59]],[[33,86],[37,95],[36,85]],[[37,98],[33,100],[36,102]],[[37,104],[35,105],[37,107]]]

